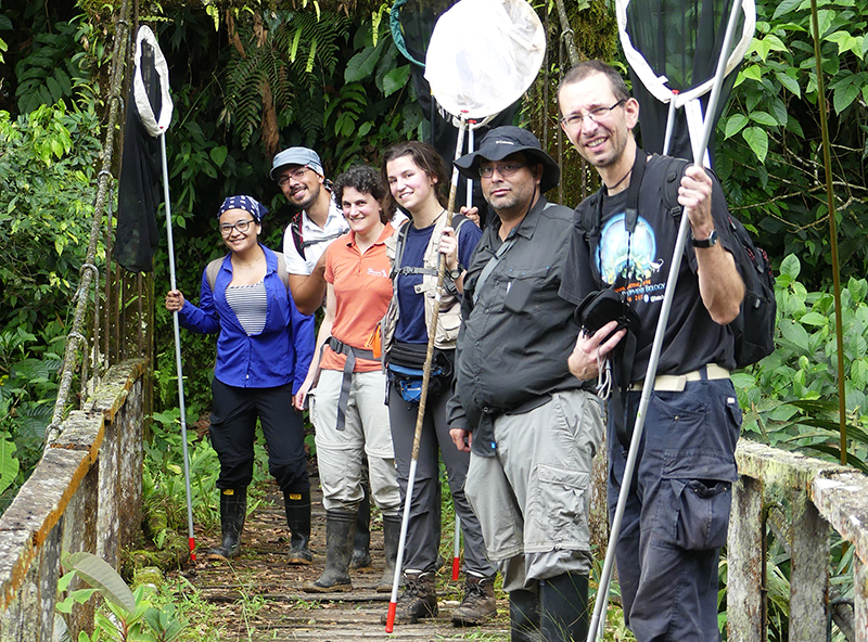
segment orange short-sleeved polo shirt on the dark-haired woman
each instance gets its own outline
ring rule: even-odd
[[[365,344],[382,321],[392,299],[385,240],[394,233],[395,229],[386,223],[380,237],[365,254],[359,254],[355,232],[334,241],[326,251],[326,281],[334,287],[336,301],[332,336],[337,341],[370,349]],[[345,361],[346,355],[335,354],[327,346],[320,367],[343,370]],[[373,372],[380,368],[380,361],[356,359],[353,371]]]

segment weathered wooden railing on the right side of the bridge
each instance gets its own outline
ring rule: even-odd
[[[850,629],[851,642],[868,642],[868,477],[744,439],[736,460],[740,479],[733,486],[727,542],[728,640],[766,639],[768,524],[790,553],[790,640],[828,640],[831,614],[842,630]],[[780,505],[791,514],[784,526]],[[852,613],[830,600],[830,528],[854,548]]]

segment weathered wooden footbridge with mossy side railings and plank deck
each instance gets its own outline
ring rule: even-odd
[[[149,394],[142,360],[113,367],[84,410],[74,411],[60,437],[0,518],[0,642],[49,642],[54,634],[61,551],[89,551],[117,564],[140,524],[142,399]],[[851,641],[868,642],[868,478],[834,464],[742,441],[728,541],[728,640],[766,639],[766,535],[775,531],[790,553],[790,640],[822,642],[829,621]],[[324,562],[324,515],[315,509],[315,565],[286,566],[286,529],[279,503],[256,511],[244,552],[230,564],[200,561],[188,579],[226,606],[228,639],[360,640],[386,638],[380,616],[387,595],[372,587],[382,573],[382,535],[373,531],[371,569],[355,572],[355,591],[333,596],[303,593]],[[852,601],[829,581],[830,534],[854,551]],[[208,538],[200,542],[203,550]],[[460,588],[439,581],[444,616],[396,627],[392,640],[508,640],[506,601],[500,617],[456,629],[446,617]],[[260,607],[248,608],[251,601]],[[246,612],[245,612],[246,608]],[[74,612],[72,627],[89,630],[93,607]],[[246,617],[239,617],[246,616]],[[246,627],[242,630],[242,624]],[[251,628],[252,627],[252,628]],[[253,630],[255,629],[255,631]],[[74,638],[75,639],[75,638]]]

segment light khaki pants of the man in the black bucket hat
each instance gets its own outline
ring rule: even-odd
[[[601,401],[566,390],[499,416],[494,457],[471,454],[465,491],[505,590],[590,570],[591,460],[602,434]]]

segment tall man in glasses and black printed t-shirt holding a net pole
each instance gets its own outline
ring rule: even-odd
[[[605,185],[599,219],[586,215],[591,200],[576,210],[560,294],[577,305],[590,292],[613,287],[641,320],[633,367],[620,373],[629,378],[618,382],[628,391],[621,407],[610,403],[610,513],[629,446],[628,437],[618,439],[614,418],[628,431],[635,424],[668,271],[673,265],[679,270],[616,544],[625,620],[639,642],[717,641],[717,560],[741,425],[727,324],[744,294],[731,254],[736,240],[725,224],[726,202],[713,177],[698,167],[686,170],[678,203],[691,242],[673,264],[678,223],[664,202],[668,162],[644,162],[633,134],[639,104],[623,79],[598,61],[580,63],[564,77],[558,100],[563,130]],[[640,185],[637,213],[627,207],[631,183]],[[598,221],[591,223],[596,229],[587,230],[588,221]],[[579,334],[569,356],[576,377],[598,374],[627,332],[610,338],[615,328],[613,321],[596,334]]]

